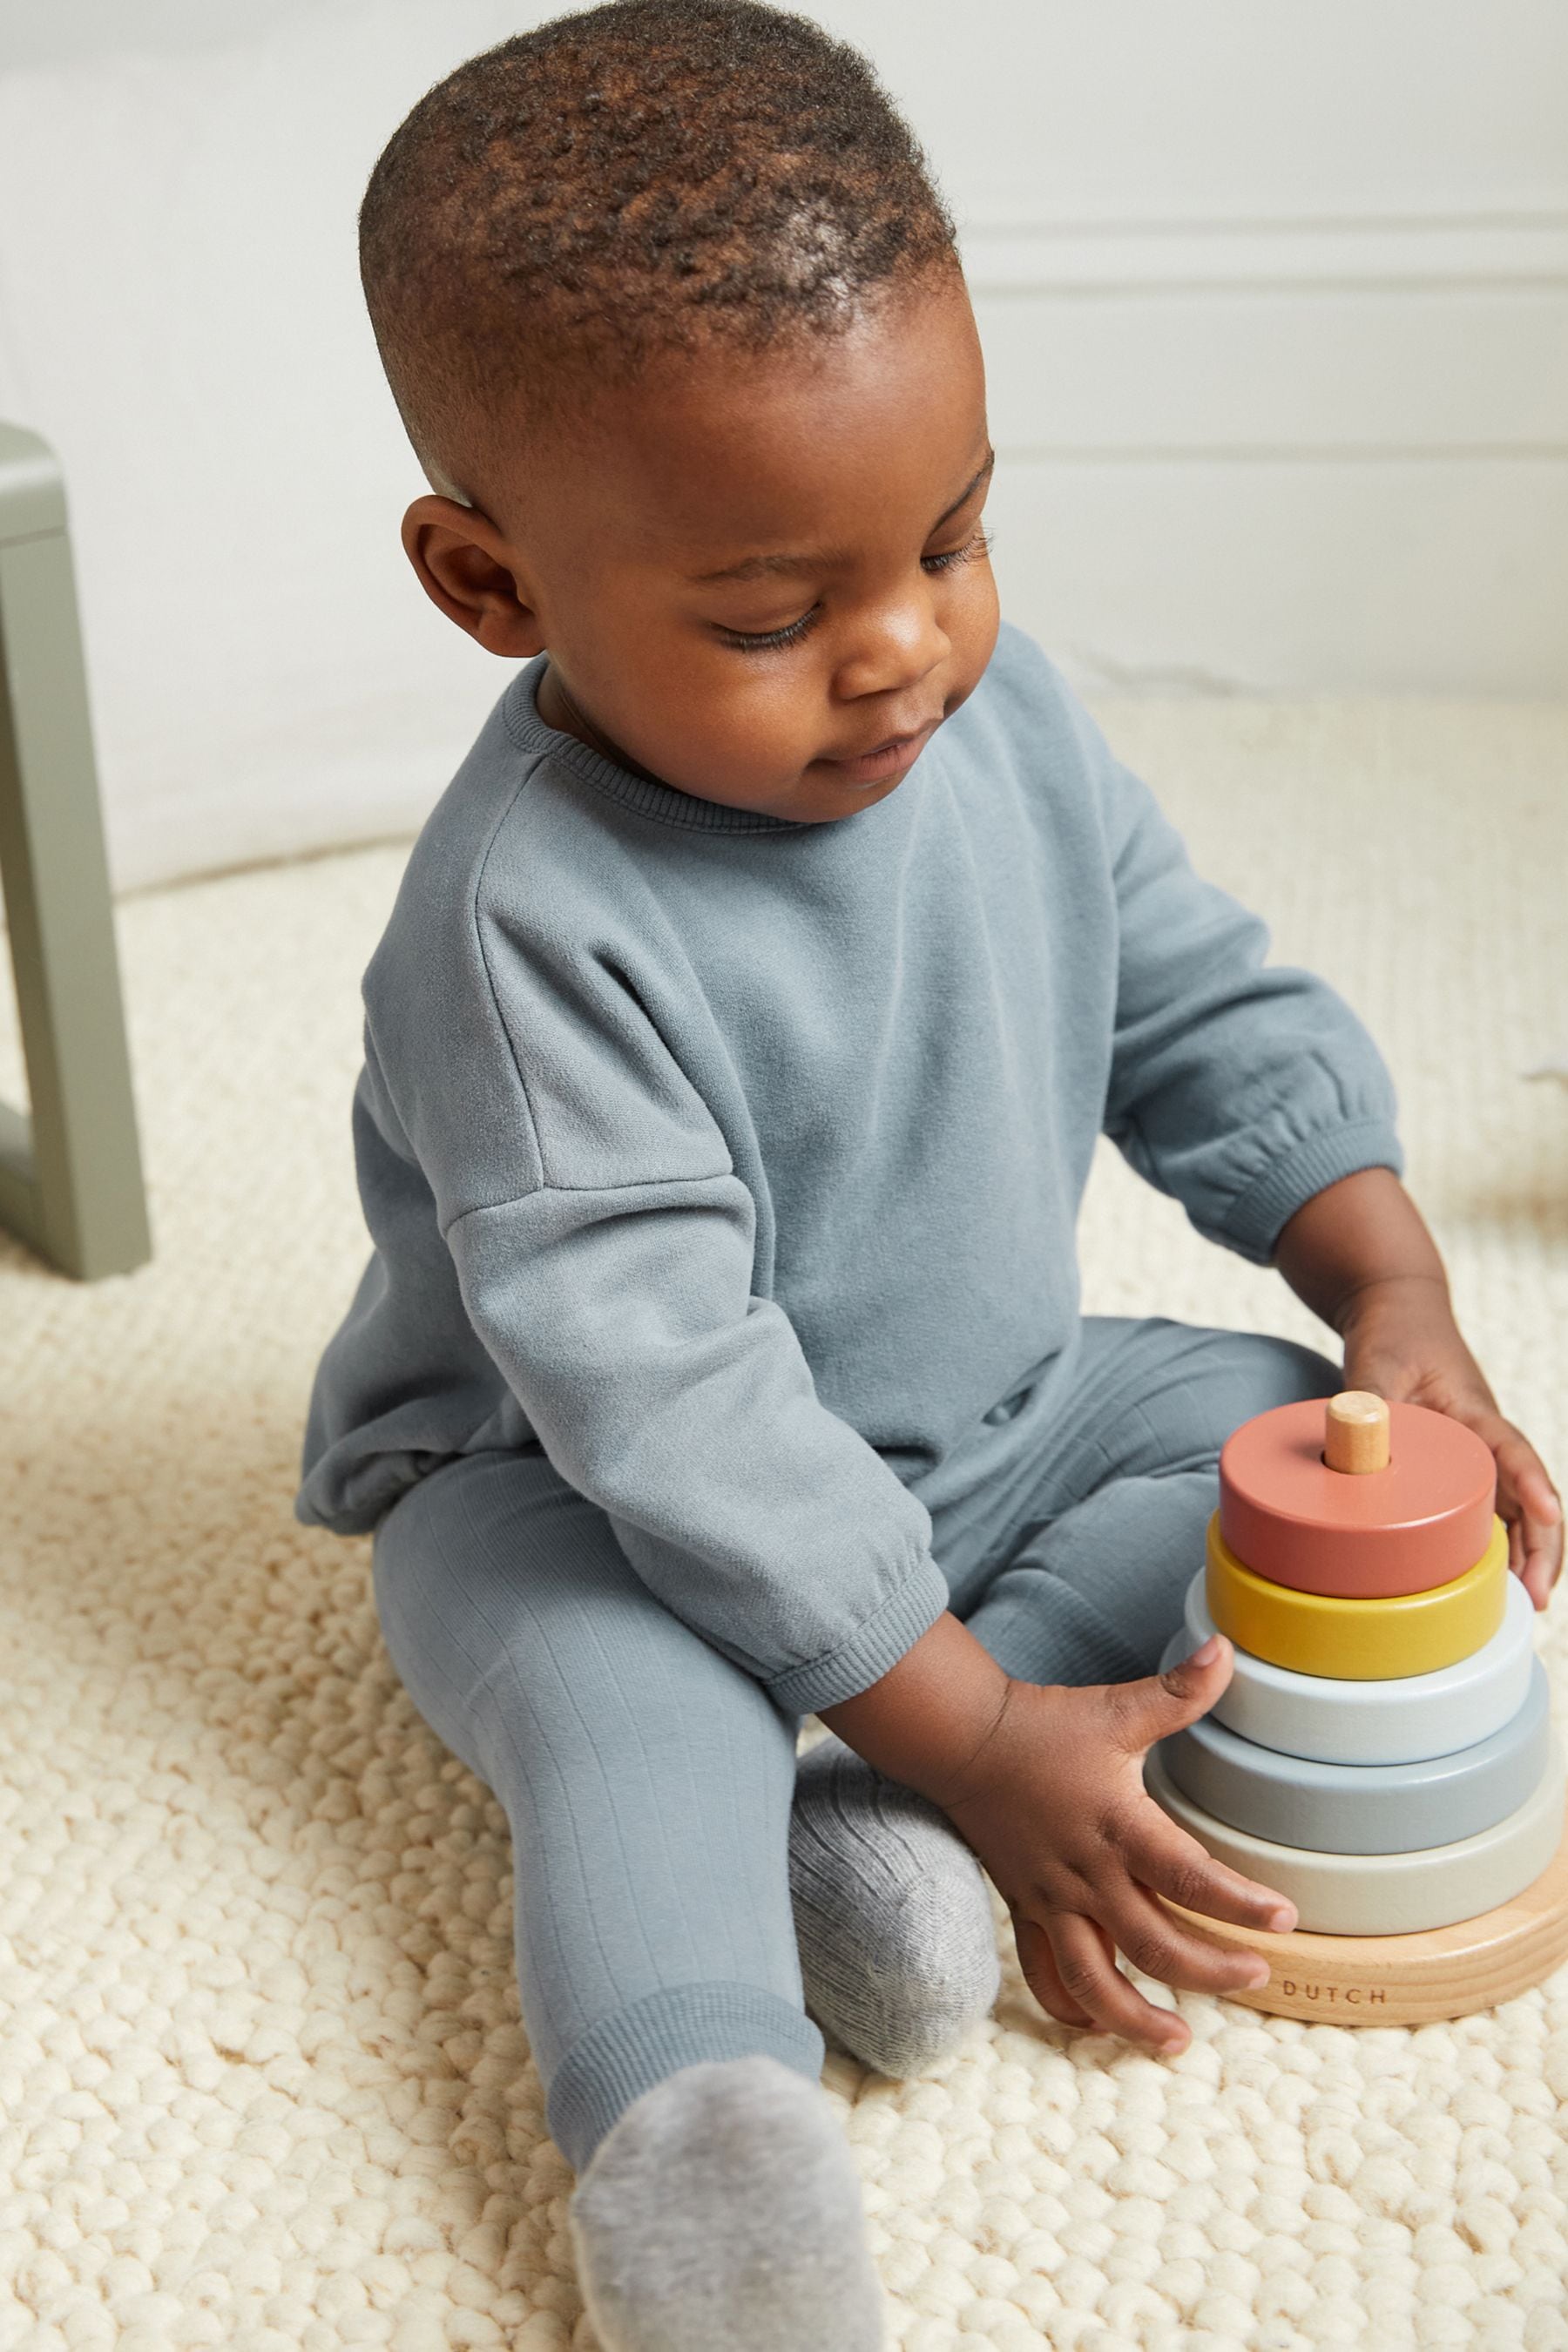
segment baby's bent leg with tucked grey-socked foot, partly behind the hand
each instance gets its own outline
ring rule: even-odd
[[[1220,1446],[1338,1385],[1288,1341],[1088,1319],[1074,1414],[969,1630],[1020,1682],[1152,1675],[1204,1559]],[[889,2074],[950,2056],[992,2006],[997,1938],[947,1816],[825,1740],[802,1764],[790,1867],[813,2016]]]

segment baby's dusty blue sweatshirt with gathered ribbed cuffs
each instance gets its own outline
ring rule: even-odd
[[[1016,628],[832,823],[630,776],[543,724],[543,668],[364,974],[374,1254],[296,1512],[360,1534],[458,1454],[543,1446],[811,1712],[947,1604],[931,1508],[1072,1348],[1095,1136],[1267,1263],[1324,1185],[1401,1169],[1392,1084]]]

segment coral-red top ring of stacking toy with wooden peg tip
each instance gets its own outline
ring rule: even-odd
[[[1328,1416],[1321,1397],[1279,1404],[1220,1451],[1229,1552],[1274,1585],[1340,1599],[1455,1583],[1490,1543],[1495,1494],[1497,1465],[1474,1430],[1366,1390],[1335,1397]]]

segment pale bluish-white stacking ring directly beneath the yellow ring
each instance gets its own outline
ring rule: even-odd
[[[1187,1585],[1185,1632],[1164,1665],[1190,1656],[1218,1632],[1204,1602],[1204,1571]],[[1535,1609],[1509,1576],[1502,1625],[1453,1665],[1392,1682],[1345,1682],[1335,1675],[1293,1675],[1251,1651],[1234,1653],[1234,1670],[1208,1719],[1260,1748],[1279,1748],[1319,1764],[1418,1764],[1422,1757],[1474,1748],[1519,1715],[1535,1661]]]

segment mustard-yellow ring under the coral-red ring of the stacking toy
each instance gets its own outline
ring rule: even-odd
[[[1295,1675],[1399,1682],[1458,1665],[1497,1632],[1507,1576],[1509,1536],[1497,1517],[1493,1541],[1465,1576],[1375,1602],[1272,1585],[1241,1566],[1220,1534],[1218,1510],[1208,1522],[1208,1616],[1239,1649]]]

